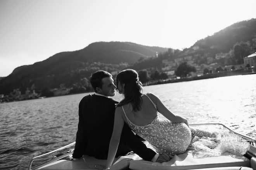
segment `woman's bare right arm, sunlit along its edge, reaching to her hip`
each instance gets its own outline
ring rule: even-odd
[[[154,95],[153,93],[149,93],[149,97],[155,102],[157,111],[163,114],[164,117],[172,122],[185,122],[185,124],[189,126],[188,121],[185,117],[178,114],[173,114],[156,95]]]

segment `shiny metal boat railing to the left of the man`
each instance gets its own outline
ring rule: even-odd
[[[50,151],[50,152],[48,152],[48,153],[45,153],[45,154],[42,154],[42,155],[33,157],[33,158],[29,161],[28,169],[27,169],[27,170],[31,170],[32,163],[33,163],[34,160],[39,159],[39,158],[43,158],[43,157],[48,156],[48,155],[50,155],[50,154],[52,154],[52,153],[54,153],[54,152],[64,150],[64,149],[66,149],[66,148],[68,148],[68,147],[74,145],[75,143],[76,143],[76,142],[73,142],[73,143],[71,143],[71,144],[69,144],[69,145],[66,145],[66,146],[63,146],[62,148],[59,148],[59,149],[57,149],[57,150]],[[55,162],[55,161],[57,161],[57,160],[60,160],[60,159],[62,159],[62,158],[64,158],[64,157],[66,157],[66,156],[72,154],[73,151],[74,151],[74,149],[71,150],[71,151],[69,151],[69,152],[66,153],[66,154],[63,154],[63,155],[61,155],[61,156],[58,156],[57,158],[54,158],[54,159],[50,160],[49,162],[47,162],[47,163],[45,163],[45,164],[42,164],[42,165],[39,165],[38,167],[35,167],[35,169],[40,168],[40,167],[43,167],[44,165],[47,165],[47,164],[52,163],[52,162]]]

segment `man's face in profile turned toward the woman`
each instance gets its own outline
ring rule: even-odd
[[[114,85],[114,80],[112,77],[102,78],[102,88],[99,88],[98,93],[106,96],[116,95],[116,85]]]

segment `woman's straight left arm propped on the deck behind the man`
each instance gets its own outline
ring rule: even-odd
[[[114,129],[113,129],[111,140],[109,143],[109,153],[107,155],[106,168],[111,167],[111,165],[114,161],[114,158],[116,156],[116,151],[118,149],[121,133],[123,130],[123,126],[125,123],[123,120],[123,117],[121,116],[121,113],[118,112],[118,110],[120,110],[120,109],[116,108],[115,118],[114,118]]]

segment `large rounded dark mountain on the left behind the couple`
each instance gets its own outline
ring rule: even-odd
[[[44,61],[14,69],[0,80],[0,94],[7,95],[17,88],[24,93],[32,86],[36,90],[59,88],[61,84],[72,87],[96,70],[122,70],[141,58],[167,50],[131,42],[94,42],[84,49],[58,53]]]

